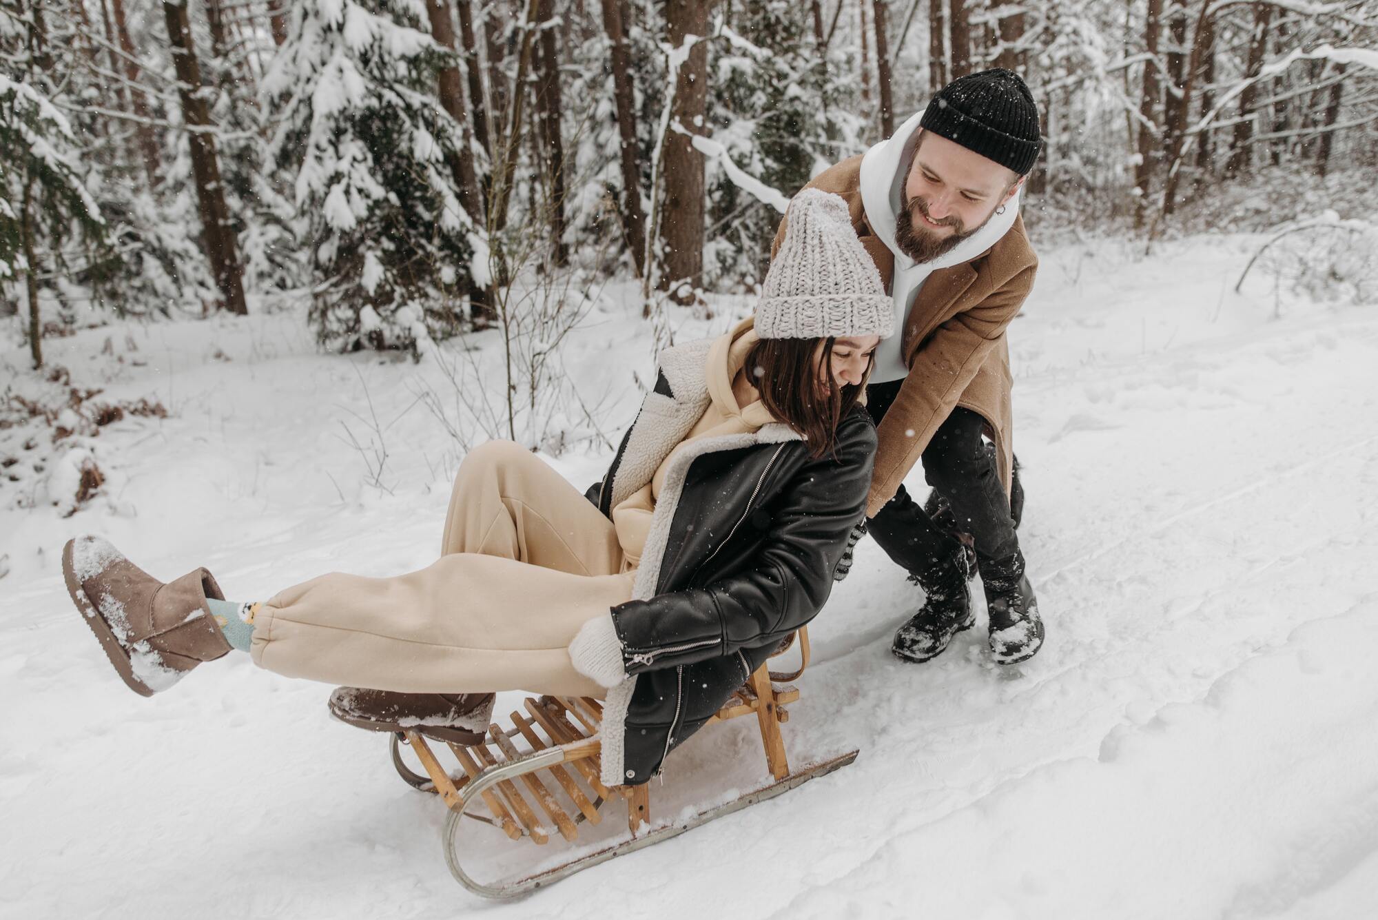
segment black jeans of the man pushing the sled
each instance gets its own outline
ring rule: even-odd
[[[879,424],[904,380],[867,387],[867,410]],[[978,559],[1007,559],[1018,552],[1010,500],[1000,485],[995,450],[983,439],[985,419],[960,406],[952,409],[923,450],[923,475],[943,496],[958,529],[976,540]],[[932,570],[956,555],[956,539],[938,527],[901,485],[871,519],[868,533],[898,565],[914,574]]]

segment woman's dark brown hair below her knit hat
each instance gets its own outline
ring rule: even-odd
[[[745,370],[761,402],[780,421],[803,435],[809,456],[836,452],[838,424],[861,398],[860,386],[839,387],[832,379],[836,339],[761,339],[747,355]],[[814,355],[817,353],[817,355]],[[867,375],[871,362],[867,364]]]

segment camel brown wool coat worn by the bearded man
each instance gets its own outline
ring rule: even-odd
[[[886,291],[894,278],[894,253],[867,223],[861,204],[861,156],[824,169],[808,189],[841,196],[852,213],[852,226],[871,253]],[[784,241],[780,220],[770,258]],[[970,262],[938,269],[929,275],[909,310],[901,353],[909,375],[900,395],[881,420],[875,474],[867,496],[868,518],[894,497],[904,477],[923,454],[933,434],[954,406],[980,413],[991,427],[1005,492],[1014,468],[1013,415],[1010,409],[1010,355],[1005,328],[1034,288],[1038,256],[1024,234],[1024,219]]]

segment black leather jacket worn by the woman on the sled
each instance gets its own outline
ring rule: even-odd
[[[835,456],[813,460],[802,441],[785,441],[692,463],[657,594],[612,610],[623,664],[637,676],[624,782],[650,778],[785,636],[823,609],[847,534],[865,510],[875,442],[875,426],[858,406],[838,427]],[[587,493],[609,516],[602,486],[626,448],[624,438],[608,475]]]

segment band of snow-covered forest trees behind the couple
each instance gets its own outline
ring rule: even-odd
[[[34,365],[44,337],[113,317],[306,303],[327,348],[416,351],[521,325],[529,284],[635,277],[648,315],[748,292],[790,194],[988,66],[1040,102],[1045,238],[1265,229],[1378,167],[1363,1],[11,0],[0,17],[0,317],[21,317]]]

